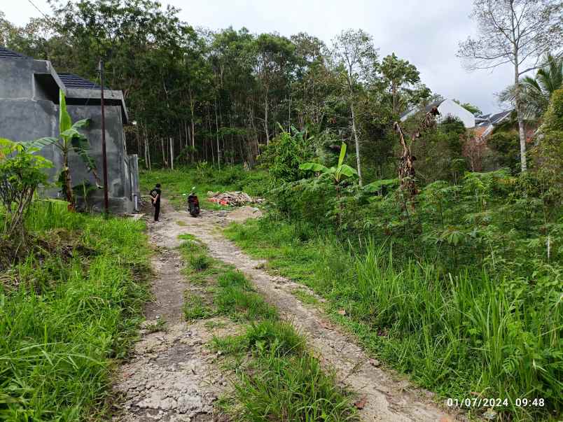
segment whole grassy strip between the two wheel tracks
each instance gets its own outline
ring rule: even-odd
[[[207,251],[194,239],[180,248],[188,262],[188,280],[199,282],[199,275],[206,273],[214,305],[211,309],[203,297],[189,293],[186,319],[223,315],[248,323],[244,335],[214,337],[212,342],[216,351],[232,358],[224,365],[236,372],[232,394],[220,401],[225,412],[241,421],[356,420],[349,395],[338,387],[334,374],[321,368],[307,351],[303,336],[291,323],[279,321],[277,310],[256,293],[242,272],[209,257],[209,265],[201,269],[201,258],[193,257],[207,256]]]

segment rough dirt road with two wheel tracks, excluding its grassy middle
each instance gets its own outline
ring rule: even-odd
[[[267,302],[303,332],[322,362],[335,368],[339,381],[366,398],[360,409],[363,421],[454,421],[432,401],[433,395],[379,367],[377,361],[354,344],[353,339],[328,321],[319,309],[305,306],[291,292],[299,286],[263,270],[254,260],[226,240],[219,227],[253,216],[249,207],[228,213],[202,211],[200,218],[174,211],[162,204],[162,221],[149,223],[156,279],[155,302],[147,309],[148,324],[165,318],[167,332],[146,333],[134,358],[124,365],[116,391],[124,395],[121,421],[211,421],[213,402],[225,380],[202,347],[211,333],[201,323],[181,321],[183,291],[190,288],[181,275],[181,260],[174,249],[179,234],[193,234],[219,260],[234,265],[255,284]]]

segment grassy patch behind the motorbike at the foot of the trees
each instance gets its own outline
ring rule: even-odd
[[[223,167],[221,171],[210,167],[182,167],[175,170],[141,171],[139,175],[141,191],[148,195],[155,183],[162,185],[162,197],[177,208],[185,208],[187,195],[195,186],[202,208],[228,209],[216,202],[207,201],[207,192],[242,190],[249,195],[263,195],[267,188],[266,171],[245,171],[242,166]]]

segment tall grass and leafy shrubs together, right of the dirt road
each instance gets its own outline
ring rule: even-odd
[[[456,126],[440,136],[459,136]],[[562,323],[560,195],[530,173],[460,173],[457,183],[430,183],[406,208],[394,179],[347,188],[340,232],[326,218],[332,183],[286,183],[269,216],[228,235],[346,309],[339,321],[423,386],[494,391],[521,420],[542,414],[514,404],[535,391],[557,413],[560,339],[545,333]]]

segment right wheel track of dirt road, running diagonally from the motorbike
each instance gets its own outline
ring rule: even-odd
[[[211,256],[244,272],[267,302],[277,307],[284,318],[306,335],[321,361],[336,370],[339,381],[358,393],[359,397],[367,399],[366,405],[359,410],[363,421],[464,420],[463,416],[454,416],[439,409],[432,402],[433,393],[415,388],[398,375],[374,366],[374,360],[330,323],[322,311],[305,307],[291,293],[303,286],[284,277],[267,274],[262,269],[265,261],[250,258],[218,232],[220,225],[251,217],[251,211],[237,211],[236,216],[202,211],[200,218],[190,218],[183,211],[174,211],[174,214],[176,219],[186,224],[183,227],[185,232],[207,245]]]

